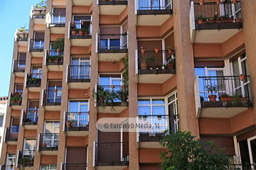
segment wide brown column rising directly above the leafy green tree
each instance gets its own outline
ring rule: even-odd
[[[198,119],[194,97],[193,45],[190,41],[190,1],[173,1],[174,43],[176,52],[176,81],[180,129],[199,137]]]

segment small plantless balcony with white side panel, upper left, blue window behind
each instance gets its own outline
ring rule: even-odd
[[[30,39],[28,41],[28,52],[31,53],[31,57],[43,57],[43,39]]]

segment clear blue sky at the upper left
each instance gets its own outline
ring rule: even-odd
[[[26,25],[28,29],[31,5],[41,0],[0,0],[0,97],[8,96],[11,77],[11,62],[14,52],[14,33]]]

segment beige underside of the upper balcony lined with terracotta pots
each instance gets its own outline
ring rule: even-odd
[[[88,47],[92,44],[92,35],[70,35],[72,46]]]

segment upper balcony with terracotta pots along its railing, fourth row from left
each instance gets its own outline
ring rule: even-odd
[[[72,46],[85,46],[88,47],[92,44],[92,28],[90,21],[83,23],[69,23],[70,24],[70,43]],[[88,30],[86,33],[78,33],[80,28]]]

